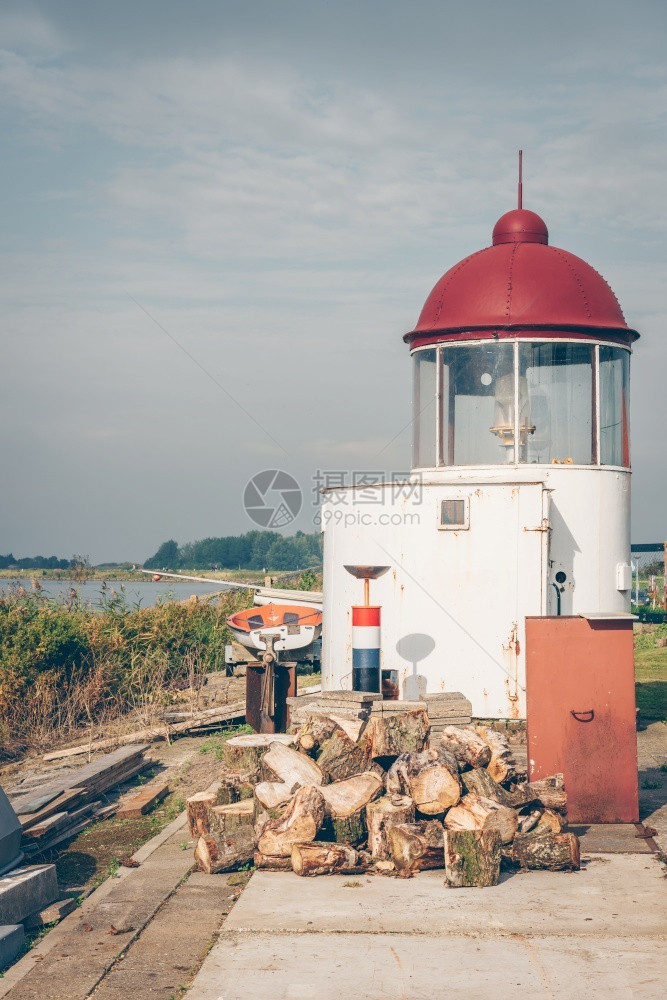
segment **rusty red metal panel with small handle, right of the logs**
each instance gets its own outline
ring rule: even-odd
[[[636,823],[632,619],[526,618],[528,776],[559,771],[572,823]]]

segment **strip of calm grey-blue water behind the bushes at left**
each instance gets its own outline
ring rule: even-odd
[[[106,600],[112,596],[112,591],[122,594],[125,603],[129,608],[137,606],[142,608],[152,607],[158,601],[185,601],[192,594],[202,597],[206,594],[213,594],[217,590],[230,590],[223,584],[216,586],[213,583],[194,583],[185,580],[160,580],[158,583],[152,580],[110,580],[103,589],[101,580],[86,580],[83,583],[74,583],[71,580],[41,580],[42,593],[46,597],[67,597],[72,587],[79,592],[83,601],[88,601],[92,607],[101,606],[101,598],[106,595]],[[31,591],[32,583],[27,577],[21,579],[0,579],[0,592],[5,593],[10,587],[24,587]],[[122,589],[121,589],[122,588]]]

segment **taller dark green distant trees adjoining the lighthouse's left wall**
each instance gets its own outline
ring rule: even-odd
[[[279,535],[277,531],[248,531],[245,535],[202,538],[179,546],[163,542],[145,569],[254,569],[290,570],[319,567],[322,540],[318,534]]]

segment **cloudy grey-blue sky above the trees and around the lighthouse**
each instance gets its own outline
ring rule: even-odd
[[[611,284],[667,535],[664,0],[0,0],[0,552],[143,561],[410,463],[402,335],[514,207]],[[348,479],[349,481],[349,479]]]

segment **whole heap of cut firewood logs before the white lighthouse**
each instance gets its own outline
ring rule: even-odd
[[[367,722],[312,714],[292,736],[230,739],[219,788],[187,803],[198,866],[401,877],[442,868],[449,886],[495,885],[501,864],[579,868],[562,775],[526,782],[488,727],[429,733],[426,712],[412,710]]]

